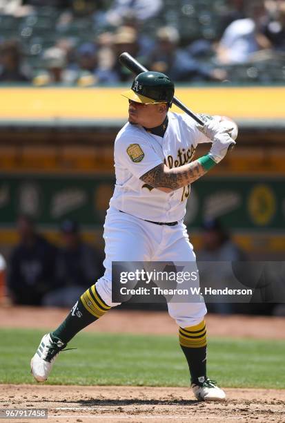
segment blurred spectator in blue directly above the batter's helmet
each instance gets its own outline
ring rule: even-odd
[[[173,81],[222,80],[224,71],[216,71],[198,62],[178,48],[179,33],[176,28],[164,26],[157,31],[157,44],[148,58],[151,70],[166,73]]]

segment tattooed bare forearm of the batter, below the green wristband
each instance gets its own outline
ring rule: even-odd
[[[206,173],[206,169],[195,160],[195,162],[184,164],[184,166],[168,169],[161,163],[143,176],[141,180],[154,188],[179,189],[201,178]]]

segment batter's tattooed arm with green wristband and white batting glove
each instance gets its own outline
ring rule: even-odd
[[[206,125],[203,130],[208,131]],[[150,171],[144,173],[140,179],[164,192],[175,191],[195,182],[226,156],[228,147],[234,142],[226,132],[217,132],[213,136],[212,141],[212,147],[206,156],[173,169],[169,169],[163,163],[158,164]]]

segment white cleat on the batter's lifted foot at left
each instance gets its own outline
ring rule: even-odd
[[[39,348],[30,361],[30,371],[37,382],[45,382],[48,379],[52,365],[59,352],[66,346],[57,338],[52,341],[50,334],[43,335]]]

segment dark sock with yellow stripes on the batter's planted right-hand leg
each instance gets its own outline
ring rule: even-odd
[[[206,379],[206,323],[203,320],[195,326],[179,328],[179,343],[190,370],[191,383]]]

